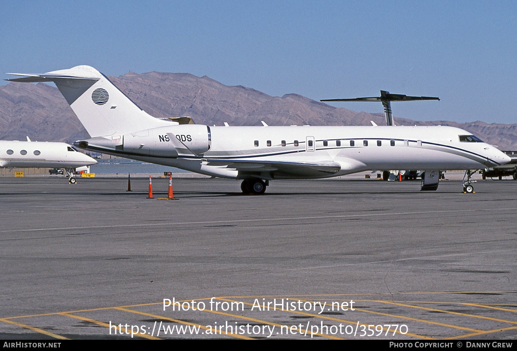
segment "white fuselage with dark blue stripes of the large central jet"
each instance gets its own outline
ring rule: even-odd
[[[166,139],[167,133],[200,153],[182,154]],[[134,142],[133,134],[145,136]],[[445,126],[171,125],[133,134],[117,141],[124,146],[118,151],[96,148],[92,143],[87,149],[211,176],[262,179],[324,178],[368,170],[476,170],[509,161],[503,152],[484,142],[460,141],[460,135],[472,135],[469,132]],[[132,148],[127,147],[130,138]],[[333,164],[336,171],[318,171],[322,163]],[[300,168],[305,164],[308,166]]]

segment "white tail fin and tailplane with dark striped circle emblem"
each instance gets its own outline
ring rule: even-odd
[[[20,74],[11,82],[54,82],[92,138],[123,135],[177,124],[157,119],[136,105],[104,74],[90,66],[43,74]]]

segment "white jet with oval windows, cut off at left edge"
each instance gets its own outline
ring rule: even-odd
[[[72,146],[56,142],[0,140],[0,168],[49,167],[64,168],[68,180],[75,183],[72,171],[97,161]]]

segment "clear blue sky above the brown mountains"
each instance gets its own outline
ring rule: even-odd
[[[393,114],[517,123],[517,2],[2,0],[0,13],[2,79],[81,64],[186,72],[314,100],[437,96]]]

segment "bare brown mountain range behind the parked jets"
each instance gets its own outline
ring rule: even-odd
[[[335,108],[297,94],[270,96],[227,86],[188,73],[129,72],[110,80],[143,110],[155,117],[190,116],[197,124],[232,126],[369,126],[384,125],[382,113]],[[397,125],[443,125],[465,129],[501,150],[517,150],[517,124],[415,121],[394,117]],[[57,88],[44,84],[0,86],[0,139],[74,142],[88,133]]]

